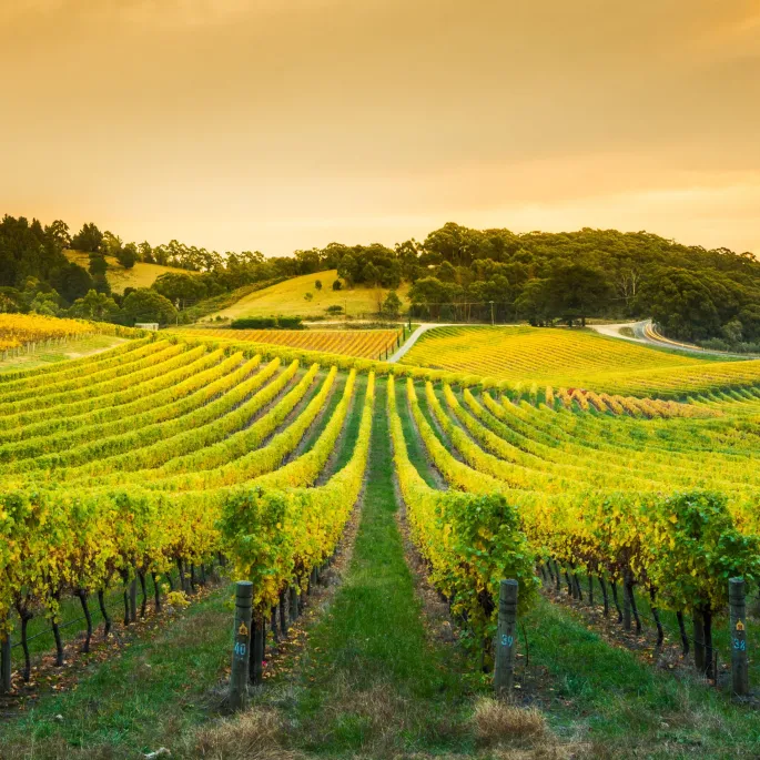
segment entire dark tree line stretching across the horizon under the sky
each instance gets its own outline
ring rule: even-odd
[[[88,268],[69,262],[67,249],[87,252]],[[151,288],[119,296],[108,285],[107,256],[124,268],[145,262],[188,273],[166,273]],[[328,270],[337,270],[336,282],[348,288],[394,292],[409,283],[415,318],[584,325],[588,317],[651,316],[678,340],[738,349],[760,343],[760,262],[751,253],[681,245],[647,232],[514,233],[447,223],[422,242],[394,247],[331,243],[265,257],[175,240],[154,247],[123,243],[95,224],[71,235],[60,220],[44,227],[23,217],[0,223],[3,311],[74,310],[91,318],[168,322],[243,285]]]

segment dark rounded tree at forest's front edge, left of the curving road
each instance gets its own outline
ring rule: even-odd
[[[555,317],[568,323],[601,314],[610,295],[605,273],[585,264],[564,264],[556,267],[547,281],[549,310]]]

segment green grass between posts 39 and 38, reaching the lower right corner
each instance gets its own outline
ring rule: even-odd
[[[577,614],[545,599],[524,622],[531,667],[545,669],[554,689],[544,689],[541,707],[559,736],[587,736],[598,757],[604,747],[608,757],[758,757],[757,709],[611,647]]]

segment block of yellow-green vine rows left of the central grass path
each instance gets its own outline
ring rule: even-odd
[[[0,384],[0,638],[20,626],[27,678],[27,624],[38,614],[50,620],[60,659],[65,596],[87,609],[98,595],[103,609],[110,588],[135,579],[145,588],[152,576],[158,600],[172,567],[184,589],[188,570],[221,554],[239,566],[251,559],[267,576],[262,600],[272,601],[331,553],[361,488],[374,374],[351,460],[320,486],[353,408],[356,372],[341,378],[338,403],[303,453],[298,444],[335,393],[337,367],[144,340],[73,374],[44,375],[42,384],[36,373]],[[36,388],[41,408],[27,405]],[[259,504],[243,516],[260,541],[255,560],[230,521],[246,499]],[[278,533],[284,521],[285,544],[277,535],[271,546],[261,543],[261,525]],[[290,558],[277,554],[296,537]]]

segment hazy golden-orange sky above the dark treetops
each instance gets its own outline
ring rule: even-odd
[[[760,253],[760,0],[0,0],[0,213],[217,251]]]

